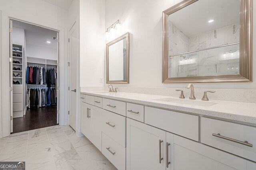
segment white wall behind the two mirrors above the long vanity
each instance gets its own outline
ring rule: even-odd
[[[186,84],[162,84],[162,11],[181,0],[106,0],[105,29],[120,20],[122,31],[130,34],[130,84],[115,86],[185,87]],[[253,3],[256,9],[256,3]],[[96,14],[96,12],[95,12]],[[256,29],[256,10],[253,10]],[[256,33],[253,33],[253,44]],[[256,50],[253,50],[253,72],[256,71]],[[253,74],[253,81],[256,74]],[[84,85],[84,84],[81,84]],[[250,83],[195,83],[195,88],[256,89]]]

